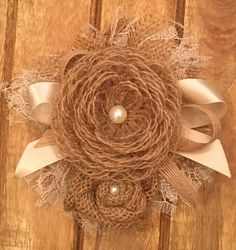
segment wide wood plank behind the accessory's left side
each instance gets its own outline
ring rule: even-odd
[[[89,21],[90,1],[9,0],[8,15],[4,15],[1,1],[1,20],[7,17],[4,37],[4,80],[30,67],[34,59],[62,52],[68,39],[83,29]],[[1,13],[2,14],[2,13]],[[5,32],[6,31],[6,32]],[[1,46],[0,46],[1,48]],[[77,226],[71,218],[55,207],[35,206],[37,194],[22,179],[14,177],[14,170],[24,147],[40,134],[25,122],[15,123],[8,118],[1,103],[1,159],[0,159],[0,248],[65,250],[77,249]],[[2,124],[3,123],[3,124]]]

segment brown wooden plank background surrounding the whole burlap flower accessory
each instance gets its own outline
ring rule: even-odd
[[[1,81],[16,76],[32,60],[62,51],[90,22],[104,29],[113,11],[125,4],[130,16],[161,15],[184,24],[211,56],[207,76],[229,104],[222,143],[232,178],[217,175],[196,209],[180,207],[173,220],[150,214],[145,230],[91,233],[51,206],[35,207],[37,195],[14,177],[28,142],[39,134],[14,123],[4,98],[0,105],[1,250],[234,250],[236,249],[236,1],[235,0],[0,0]]]

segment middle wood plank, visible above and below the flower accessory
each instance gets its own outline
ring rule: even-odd
[[[97,8],[101,9],[101,13],[97,13],[96,25],[102,30],[108,27],[119,6],[123,8],[123,13],[128,17],[143,17],[148,14],[153,14],[154,16],[158,15],[173,20],[176,17],[177,8],[181,7],[181,5],[177,4],[178,2],[180,1],[140,0],[134,4],[131,0],[98,1]],[[178,11],[180,18],[181,10]],[[100,22],[98,22],[98,20],[100,20]],[[143,228],[134,226],[127,230],[103,230],[101,233],[85,230],[83,246],[86,250],[165,250],[168,249],[169,229],[169,218],[165,216],[160,218],[160,215],[156,211],[152,211]]]

